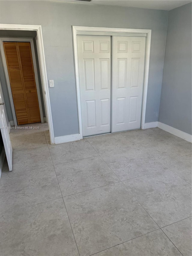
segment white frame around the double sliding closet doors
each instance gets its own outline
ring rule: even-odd
[[[145,128],[145,115],[146,115],[146,102],[147,102],[147,87],[149,78],[149,58],[150,58],[150,46],[151,46],[151,29],[119,29],[119,28],[101,28],[101,27],[82,27],[72,26],[73,29],[73,51],[75,62],[75,79],[76,79],[76,95],[77,95],[77,108],[79,118],[79,138],[83,138],[82,134],[82,115],[81,115],[81,97],[80,97],[80,83],[79,83],[79,67],[78,67],[78,54],[77,54],[77,34],[78,32],[90,32],[90,35],[103,35],[104,32],[111,32],[113,35],[121,35],[122,33],[145,33],[146,37],[146,55],[145,55],[145,70],[144,70],[144,82],[143,82],[143,101],[142,101],[142,113],[141,113],[141,129]]]

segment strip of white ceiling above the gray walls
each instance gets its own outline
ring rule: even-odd
[[[91,2],[64,0],[64,2],[76,2],[88,5],[115,5],[122,7],[136,7],[170,11],[190,3],[191,0],[91,0]]]

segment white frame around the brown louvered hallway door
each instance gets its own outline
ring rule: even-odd
[[[14,125],[17,126],[18,124],[17,124],[16,113],[15,113],[15,108],[14,108],[13,95],[11,92],[7,63],[6,63],[6,59],[5,59],[5,52],[4,52],[4,47],[3,47],[4,41],[6,41],[6,42],[15,42],[15,41],[30,42],[30,44],[31,44],[31,52],[32,52],[33,68],[34,68],[34,73],[35,73],[35,83],[36,83],[36,88],[37,88],[39,110],[40,110],[41,122],[44,123],[43,108],[42,108],[42,102],[41,102],[41,93],[40,93],[40,88],[39,88],[39,80],[38,80],[38,72],[37,72],[37,64],[36,64],[36,58],[35,58],[35,48],[34,48],[33,38],[4,37],[4,38],[0,38],[0,51],[1,51],[1,56],[2,56],[3,68],[4,68],[6,83],[7,83],[7,89],[8,89],[8,94],[9,94],[9,100],[10,100]]]

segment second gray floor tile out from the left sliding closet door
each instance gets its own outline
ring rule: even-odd
[[[167,169],[139,148],[103,155],[102,158],[121,180]]]

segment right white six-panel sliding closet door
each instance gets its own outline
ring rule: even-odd
[[[112,132],[140,128],[145,37],[113,36]]]

